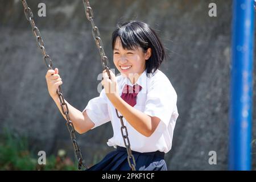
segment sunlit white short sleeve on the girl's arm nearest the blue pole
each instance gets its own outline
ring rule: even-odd
[[[176,102],[177,94],[171,82],[166,79],[155,80],[149,85],[144,113],[158,117],[167,127],[175,112]]]

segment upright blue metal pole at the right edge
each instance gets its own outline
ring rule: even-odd
[[[251,169],[254,0],[233,1],[229,169]]]

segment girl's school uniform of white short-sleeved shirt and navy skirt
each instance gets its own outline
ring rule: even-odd
[[[134,85],[131,84],[129,78],[122,75],[117,76],[117,83],[120,96],[127,85],[138,84],[141,86],[134,108],[160,119],[154,133],[150,137],[145,137],[123,118],[123,123],[129,134],[136,169],[167,170],[164,154],[171,150],[175,123],[179,116],[176,106],[177,94],[170,80],[158,69],[154,74],[147,74],[145,70]],[[108,140],[107,144],[116,148],[115,151],[110,152],[100,163],[95,164],[89,170],[130,170],[121,134],[121,122],[104,89],[99,97],[88,102],[83,112],[85,110],[88,117],[95,123],[93,129],[111,121],[113,137]]]

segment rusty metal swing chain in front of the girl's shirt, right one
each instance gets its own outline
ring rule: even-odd
[[[103,43],[102,43],[101,38],[100,38],[100,31],[98,30],[98,27],[95,25],[94,20],[93,20],[94,15],[93,15],[92,7],[90,7],[89,0],[82,0],[82,1],[84,2],[84,9],[85,9],[86,18],[92,24],[92,35],[93,35],[93,38],[96,42],[96,46],[98,48],[98,51],[100,52],[102,68],[103,68],[103,70],[106,70],[106,72],[108,73],[108,76],[110,78],[109,60],[108,60],[108,57],[105,55],[105,52],[104,52]],[[129,141],[129,138],[128,138],[127,127],[125,125],[123,125],[123,116],[118,115],[117,109],[115,109],[115,111],[117,113],[117,117],[121,121],[121,125],[122,125],[121,126],[121,133],[122,133],[123,142],[125,143],[126,151],[127,151],[127,154],[128,154],[127,160],[128,160],[129,166],[130,166],[131,170],[136,171],[136,168],[135,168],[136,163],[135,163],[134,156],[131,153],[131,146],[130,146],[130,141]],[[123,133],[123,130],[125,130],[125,134]]]

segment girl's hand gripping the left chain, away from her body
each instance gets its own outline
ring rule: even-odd
[[[49,95],[53,98],[57,96],[57,88],[62,84],[59,71],[57,68],[55,70],[49,69],[46,73],[46,82],[48,87]]]

